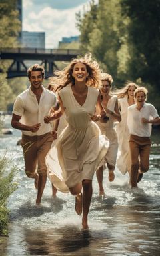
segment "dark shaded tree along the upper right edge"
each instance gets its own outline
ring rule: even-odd
[[[123,15],[129,17],[128,42],[132,45],[129,68],[134,78],[160,83],[160,1],[123,0]]]

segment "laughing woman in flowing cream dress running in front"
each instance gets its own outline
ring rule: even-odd
[[[92,197],[92,179],[107,153],[109,141],[95,123],[106,113],[101,105],[101,95],[96,89],[101,85],[101,70],[91,54],[73,59],[63,71],[58,71],[63,86],[59,88],[61,111],[55,111],[52,117],[45,117],[45,123],[66,114],[67,127],[57,141],[58,159],[61,165],[59,180],[55,187],[60,191],[65,183],[72,195],[75,195],[75,211],[82,217],[83,229],[88,229],[88,213]],[[95,107],[99,116],[95,115]],[[52,150],[52,149],[51,149]],[[52,161],[47,165],[53,168]],[[81,191],[83,191],[81,193]]]

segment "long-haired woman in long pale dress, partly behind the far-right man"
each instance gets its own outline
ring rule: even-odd
[[[129,81],[126,85],[114,91],[119,99],[119,109],[121,111],[121,123],[117,123],[115,130],[118,136],[119,154],[117,157],[117,167],[123,175],[131,169],[131,156],[129,153],[129,129],[127,126],[127,109],[135,104],[134,91],[138,87]]]

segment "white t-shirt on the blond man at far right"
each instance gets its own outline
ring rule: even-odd
[[[145,103],[141,110],[138,110],[136,104],[128,107],[127,112],[127,125],[129,127],[129,133],[137,135],[139,137],[151,136],[151,123],[142,123],[141,119],[155,119],[158,117],[157,110],[149,103]]]

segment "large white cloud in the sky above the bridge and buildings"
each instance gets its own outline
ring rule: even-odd
[[[86,1],[89,3],[89,0]],[[31,4],[33,4],[33,1],[29,0],[29,5]],[[44,31],[46,48],[57,47],[62,37],[79,35],[75,25],[75,13],[83,11],[84,4],[71,9],[61,10],[48,6],[39,9],[39,11],[37,11],[35,5],[31,9],[29,5],[24,9],[23,31]]]

